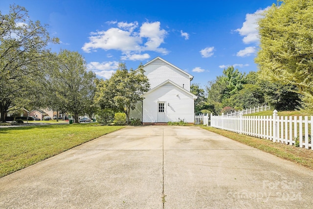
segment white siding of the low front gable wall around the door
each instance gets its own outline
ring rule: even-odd
[[[194,122],[194,99],[192,95],[167,83],[145,95],[143,122],[157,121],[157,102],[165,102],[166,122]]]

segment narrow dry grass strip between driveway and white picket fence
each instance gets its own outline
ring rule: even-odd
[[[268,139],[250,137],[212,127],[201,128],[313,169],[313,150],[295,147],[278,142],[275,143]]]

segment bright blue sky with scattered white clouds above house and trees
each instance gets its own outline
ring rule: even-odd
[[[49,25],[54,51],[78,51],[98,77],[160,56],[204,88],[227,66],[257,70],[255,14],[276,0],[1,0],[1,13],[13,3]]]

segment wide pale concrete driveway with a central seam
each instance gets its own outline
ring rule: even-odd
[[[313,171],[200,127],[127,127],[0,179],[0,208],[304,209]]]

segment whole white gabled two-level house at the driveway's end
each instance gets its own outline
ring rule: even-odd
[[[144,124],[165,122],[194,122],[194,100],[190,93],[193,76],[173,64],[156,57],[143,66],[150,82],[149,92],[143,94],[130,117],[140,118]]]

